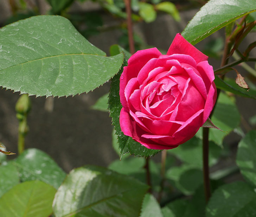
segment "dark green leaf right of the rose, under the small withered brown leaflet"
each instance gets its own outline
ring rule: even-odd
[[[256,99],[256,91],[251,90],[251,89],[249,91],[247,91],[247,90],[243,89],[242,87],[239,87],[236,84],[235,80],[233,80],[233,79],[222,80],[216,75],[214,82],[216,84],[216,87],[221,90],[229,91],[229,92],[239,95],[239,96]]]

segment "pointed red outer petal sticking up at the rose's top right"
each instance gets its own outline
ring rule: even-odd
[[[195,48],[191,43],[189,43],[186,39],[178,33],[171,46],[168,49],[167,55],[172,54],[187,54],[190,55],[196,60],[197,63],[208,60],[208,56],[204,55],[200,50]]]

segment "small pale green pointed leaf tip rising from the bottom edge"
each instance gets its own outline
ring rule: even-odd
[[[163,217],[160,205],[152,194],[145,195],[140,217]]]

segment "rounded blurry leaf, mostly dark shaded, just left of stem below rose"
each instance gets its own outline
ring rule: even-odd
[[[183,164],[166,171],[166,178],[185,195],[191,195],[203,183],[203,172],[193,165]]]

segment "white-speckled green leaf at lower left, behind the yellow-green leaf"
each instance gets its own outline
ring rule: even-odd
[[[39,149],[26,149],[14,162],[20,172],[21,181],[38,179],[56,189],[65,178],[65,172],[45,152]]]

